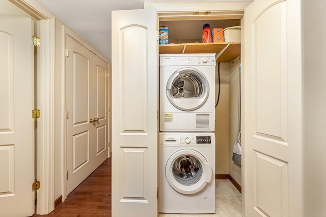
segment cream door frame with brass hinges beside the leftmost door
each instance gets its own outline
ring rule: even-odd
[[[48,214],[55,204],[55,16],[32,0],[9,0],[37,20],[41,45],[37,54],[37,104],[41,110],[37,128],[37,214]]]

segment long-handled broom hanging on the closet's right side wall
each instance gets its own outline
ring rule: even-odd
[[[240,143],[240,119],[241,119],[241,64],[239,66],[239,95],[238,95],[238,135],[233,145],[232,161],[241,165],[241,143]]]

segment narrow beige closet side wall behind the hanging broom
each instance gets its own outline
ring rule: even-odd
[[[239,66],[240,57],[229,64],[229,174],[241,185],[241,166],[232,161],[233,145],[237,142],[238,132]]]

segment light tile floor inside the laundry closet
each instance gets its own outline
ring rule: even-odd
[[[215,180],[215,214],[167,214],[159,217],[241,217],[241,193],[228,179]]]

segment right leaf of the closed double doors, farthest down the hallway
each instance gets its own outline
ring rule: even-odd
[[[93,54],[91,82],[91,105],[93,118],[93,170],[101,165],[108,156],[108,64]]]

